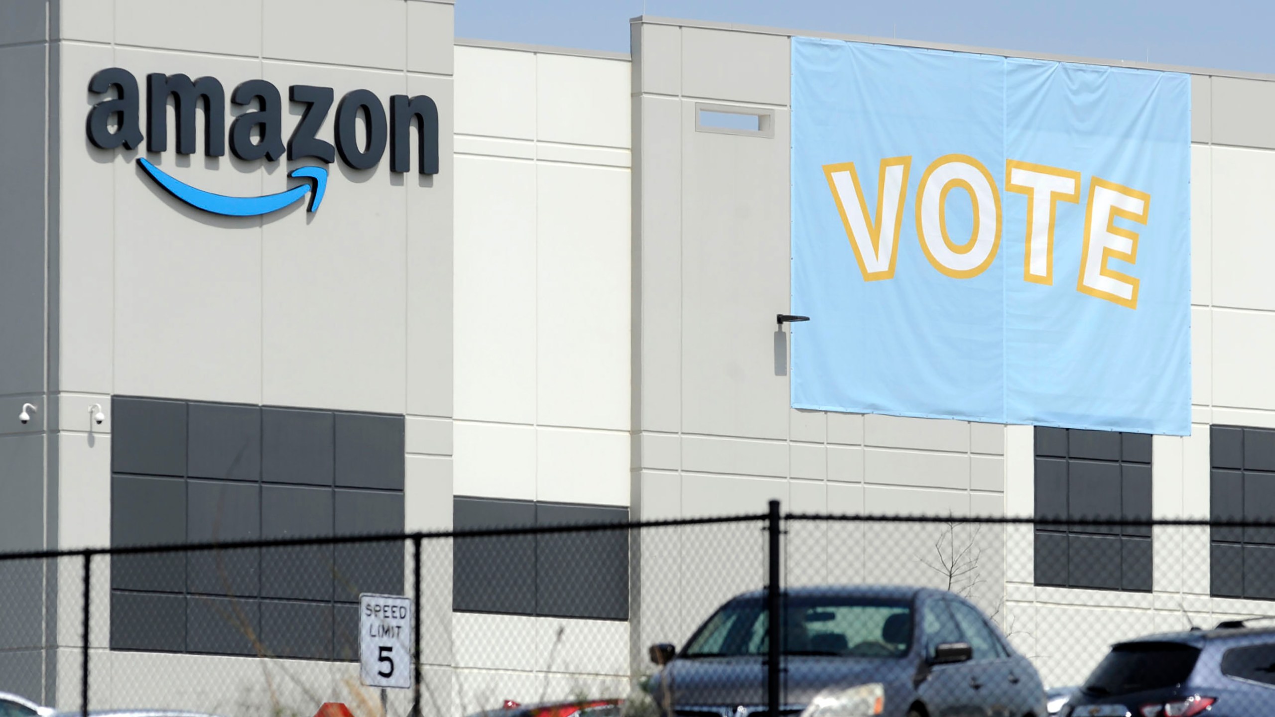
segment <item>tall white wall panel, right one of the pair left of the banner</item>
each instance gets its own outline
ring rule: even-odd
[[[629,429],[629,172],[537,167],[537,421]]]

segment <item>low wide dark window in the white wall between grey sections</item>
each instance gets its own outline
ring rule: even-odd
[[[455,498],[456,531],[626,523],[629,509]],[[451,605],[597,620],[629,619],[629,531],[623,528],[464,537],[453,541]]]

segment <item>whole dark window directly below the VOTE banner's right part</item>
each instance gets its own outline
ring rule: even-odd
[[[1035,429],[1035,515],[1148,521],[1151,436]],[[1035,584],[1150,592],[1149,526],[1037,526]]]

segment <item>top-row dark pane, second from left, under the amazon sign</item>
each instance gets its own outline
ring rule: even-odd
[[[187,475],[256,481],[261,477],[261,410],[256,406],[190,404]]]

